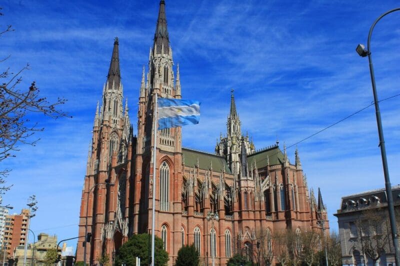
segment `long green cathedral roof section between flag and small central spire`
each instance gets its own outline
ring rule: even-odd
[[[223,167],[225,167],[225,172],[231,174],[230,168],[224,157],[187,148],[182,148],[182,154],[184,156],[185,166],[194,167],[197,164],[198,159],[198,167],[200,169],[209,169],[209,166],[212,163],[212,169],[214,171],[222,172]]]

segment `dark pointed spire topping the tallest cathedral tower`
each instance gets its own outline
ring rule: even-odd
[[[168,29],[166,27],[166,16],[165,16],[165,1],[160,0],[157,26],[155,27],[154,34],[154,46],[156,46],[156,53],[169,53],[169,37]]]

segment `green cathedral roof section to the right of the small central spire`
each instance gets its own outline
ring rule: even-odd
[[[277,165],[283,162],[283,153],[278,145],[266,147],[247,156],[248,164],[252,165],[255,161],[257,168],[266,167],[267,160],[269,160],[269,165]]]

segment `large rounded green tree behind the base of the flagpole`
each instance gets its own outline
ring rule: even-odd
[[[151,235],[139,234],[133,235],[125,244],[123,244],[116,253],[115,265],[125,264],[134,266],[136,257],[140,258],[140,265],[147,266],[151,250]],[[155,237],[155,266],[164,266],[168,262],[168,253],[164,251],[162,240]]]

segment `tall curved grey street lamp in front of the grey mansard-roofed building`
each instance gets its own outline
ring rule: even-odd
[[[375,27],[376,23],[383,16],[385,16],[389,13],[392,13],[394,11],[399,11],[399,10],[400,10],[400,8],[391,9],[391,10],[386,11],[385,13],[381,14],[378,18],[376,18],[376,20],[372,23],[372,26],[369,29],[367,49],[365,50],[364,45],[362,45],[362,44],[358,44],[357,48],[355,49],[360,56],[362,56],[362,57],[368,56],[368,60],[369,60],[369,72],[371,75],[372,92],[373,92],[373,99],[374,99],[374,103],[375,103],[376,124],[378,127],[380,154],[382,157],[383,174],[384,174],[385,188],[386,188],[387,209],[389,211],[391,237],[392,237],[392,241],[393,241],[394,259],[395,259],[396,265],[400,265],[400,255],[399,255],[399,250],[398,250],[398,236],[397,236],[397,229],[396,229],[396,220],[395,220],[395,215],[394,215],[393,195],[391,192],[389,170],[387,167],[386,148],[384,146],[382,121],[380,119],[379,101],[378,101],[378,95],[376,93],[375,74],[373,72],[370,42],[371,42],[372,30]]]

